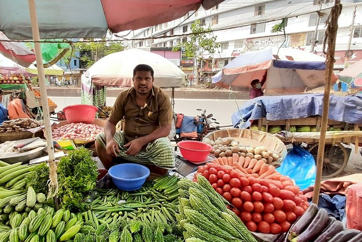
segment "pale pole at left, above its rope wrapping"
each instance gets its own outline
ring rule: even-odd
[[[32,32],[33,32],[33,39],[34,39],[34,49],[35,49],[35,56],[36,56],[36,66],[38,69],[38,77],[39,77],[39,86],[40,86],[40,93],[42,95],[41,105],[43,106],[43,115],[44,115],[44,124],[45,124],[45,136],[47,138],[47,145],[48,145],[48,154],[49,159],[54,161],[54,146],[52,141],[52,127],[50,123],[50,114],[49,114],[49,105],[48,105],[48,95],[47,89],[45,86],[45,74],[44,74],[44,66],[43,66],[43,57],[41,53],[41,46],[40,46],[40,35],[39,35],[39,26],[38,20],[36,18],[36,7],[35,7],[35,0],[28,0],[29,2],[29,11],[30,11],[30,20],[32,22]]]

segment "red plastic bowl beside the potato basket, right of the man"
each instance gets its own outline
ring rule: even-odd
[[[207,155],[212,150],[212,146],[192,140],[180,141],[177,143],[177,146],[185,159],[194,162],[205,161]]]

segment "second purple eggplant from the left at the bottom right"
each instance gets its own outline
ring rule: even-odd
[[[326,209],[319,209],[313,220],[309,223],[308,227],[292,242],[308,242],[312,241],[326,226],[328,221],[328,213]]]

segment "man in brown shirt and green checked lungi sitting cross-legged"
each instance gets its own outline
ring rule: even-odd
[[[154,164],[160,168],[175,166],[172,145],[167,136],[172,123],[170,98],[153,85],[154,70],[145,64],[133,70],[134,87],[120,93],[105,124],[96,137],[96,149],[104,167],[114,165],[114,157]],[[122,131],[116,125],[124,119]]]

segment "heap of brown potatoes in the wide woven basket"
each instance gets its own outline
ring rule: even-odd
[[[245,147],[232,137],[219,137],[215,141],[205,138],[204,142],[213,147],[210,153],[214,154],[215,157],[228,157],[232,156],[233,153],[237,153],[239,157],[263,160],[267,164],[279,160],[279,152],[276,150],[268,150],[265,146],[251,145]]]

